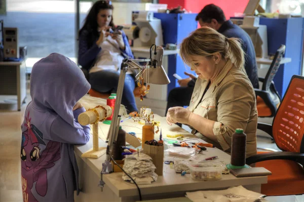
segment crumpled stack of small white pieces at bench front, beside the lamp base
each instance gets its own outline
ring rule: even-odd
[[[123,169],[130,175],[137,184],[151,184],[157,180],[158,175],[155,173],[156,167],[153,164],[152,158],[144,153],[128,155],[124,159]],[[123,180],[133,181],[126,175],[123,175]]]

